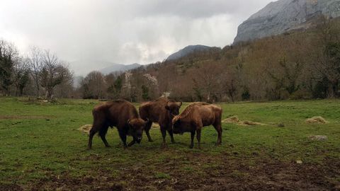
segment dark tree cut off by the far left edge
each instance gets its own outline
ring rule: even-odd
[[[16,47],[5,40],[0,40],[0,85],[7,96],[11,94],[10,87],[13,83],[13,66],[16,59],[18,59]]]

